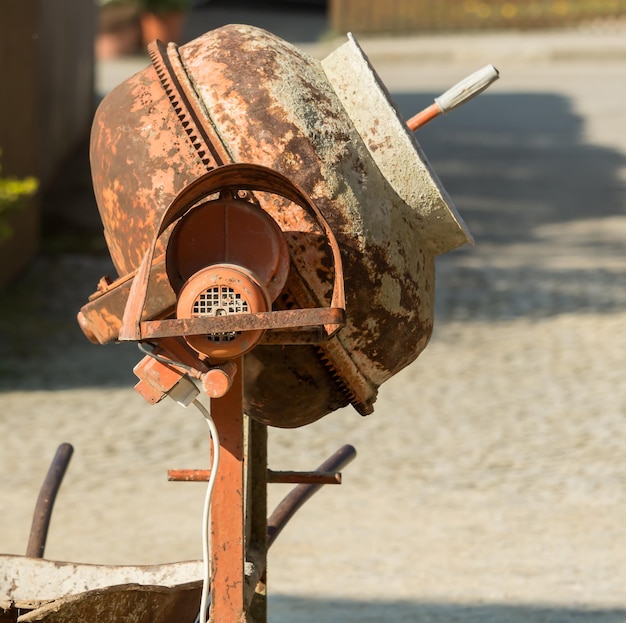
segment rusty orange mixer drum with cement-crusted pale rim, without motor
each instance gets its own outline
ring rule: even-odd
[[[370,413],[378,387],[431,335],[435,256],[470,237],[367,58],[351,37],[320,62],[241,25],[181,47],[155,42],[150,53],[152,66],[103,100],[92,132],[94,190],[120,277],[130,280],[163,212],[202,174],[233,162],[283,174],[337,239],[346,325],[321,344],[261,342],[247,353],[246,412],[280,427],[350,403]],[[334,275],[318,223],[288,199],[262,192],[254,200],[289,250],[274,308],[323,304]],[[165,268],[154,281],[167,281]],[[146,313],[162,317],[173,303],[175,295]],[[111,341],[122,311],[109,310],[98,329],[90,307],[81,324],[94,341]]]

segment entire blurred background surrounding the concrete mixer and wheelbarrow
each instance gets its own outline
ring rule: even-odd
[[[24,552],[69,441],[47,557],[198,554],[203,491],[165,470],[204,465],[203,423],[148,408],[136,348],[75,321],[113,270],[100,99],[149,64],[145,38],[248,23],[323,58],[352,31],[405,119],[486,63],[501,79],[416,134],[477,242],[438,259],[430,345],[371,417],[270,433],[276,469],[359,452],[272,550],[272,620],[623,623],[626,0],[150,4],[0,3],[0,552]]]

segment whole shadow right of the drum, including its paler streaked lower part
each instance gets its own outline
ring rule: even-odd
[[[393,99],[408,118],[436,95]],[[626,158],[585,140],[568,98],[484,94],[417,138],[476,239],[440,258],[440,317],[624,309]]]

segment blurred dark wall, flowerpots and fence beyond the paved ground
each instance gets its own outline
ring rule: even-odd
[[[42,248],[42,234],[44,243],[63,245],[65,225],[93,225],[93,210],[83,202],[94,107],[111,81],[125,77],[115,61],[141,57],[152,38],[182,43],[236,22],[299,44],[348,31],[372,38],[614,29],[624,23],[626,0],[11,0],[2,3],[0,18],[0,175],[30,182],[14,184],[2,200],[0,219],[12,231],[0,243],[0,284],[6,284]]]

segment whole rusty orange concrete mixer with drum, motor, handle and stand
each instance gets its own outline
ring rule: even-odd
[[[269,472],[266,427],[350,404],[368,415],[426,347],[434,259],[471,236],[412,130],[497,72],[407,125],[352,36],[321,62],[243,25],[149,53],[96,113],[93,185],[118,276],[79,322],[95,343],[140,344],[148,402],[210,398],[211,470],[171,475],[210,483],[200,618],[260,622],[267,483],[306,497],[354,455]]]

